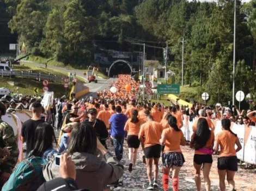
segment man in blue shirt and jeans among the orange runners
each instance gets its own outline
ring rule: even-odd
[[[109,119],[111,124],[111,137],[114,143],[115,156],[118,161],[123,158],[123,144],[125,138],[124,126],[128,117],[122,113],[120,106],[115,107],[115,114]]]

